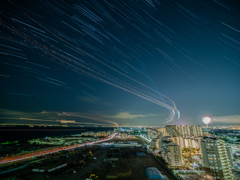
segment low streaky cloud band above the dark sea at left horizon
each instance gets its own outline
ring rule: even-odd
[[[0,123],[17,122],[23,123],[61,123],[61,120],[75,121],[76,124],[96,124],[96,125],[116,125],[124,120],[139,120],[142,118],[161,116],[163,114],[134,114],[126,111],[120,112],[64,112],[64,111],[42,111],[42,112],[22,112],[7,109],[0,109]],[[17,121],[16,121],[17,120]],[[59,121],[60,120],[60,121]],[[101,124],[100,124],[101,123]]]

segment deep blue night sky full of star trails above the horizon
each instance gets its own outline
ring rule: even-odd
[[[0,123],[240,124],[238,0],[10,0],[0,23]]]

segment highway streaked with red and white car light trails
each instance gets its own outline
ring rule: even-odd
[[[6,158],[0,160],[0,165],[12,163],[12,162],[19,162],[19,161],[23,161],[23,160],[28,160],[28,159],[31,159],[31,158],[34,158],[34,157],[37,157],[37,156],[44,156],[44,155],[56,153],[56,152],[59,152],[59,151],[66,151],[66,150],[70,150],[70,149],[74,149],[74,148],[89,146],[89,145],[92,145],[92,144],[108,141],[108,140],[114,138],[116,136],[116,134],[117,133],[113,133],[110,136],[108,136],[107,138],[101,139],[101,140],[98,140],[98,141],[92,141],[92,142],[87,142],[87,143],[77,144],[77,145],[70,145],[70,146],[65,146],[65,147],[60,147],[60,148],[43,149],[41,151],[34,152],[34,153],[29,153],[29,154],[26,154],[26,155],[6,157]]]

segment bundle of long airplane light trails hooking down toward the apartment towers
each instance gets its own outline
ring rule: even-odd
[[[15,5],[15,4],[14,4]],[[175,103],[168,97],[164,96],[163,94],[159,93],[158,91],[148,87],[147,85],[135,80],[134,78],[129,77],[128,75],[116,70],[115,68],[111,67],[110,65],[107,65],[106,63],[100,61],[99,59],[95,58],[94,56],[90,55],[89,53],[86,53],[85,51],[82,51],[81,49],[79,49],[77,46],[75,46],[72,41],[69,42],[67,40],[64,40],[63,38],[61,38],[59,35],[56,35],[55,33],[53,33],[52,31],[50,31],[48,28],[44,27],[43,25],[41,25],[40,23],[38,23],[35,19],[33,19],[32,17],[30,17],[29,15],[27,15],[26,12],[23,12],[23,10],[21,8],[19,8],[18,6],[15,5],[15,7],[20,10],[25,16],[27,16],[28,18],[30,18],[32,21],[34,21],[36,24],[38,24],[39,26],[41,26],[43,29],[46,30],[46,32],[49,32],[50,34],[54,35],[55,38],[57,39],[57,41],[62,41],[66,44],[68,44],[69,46],[71,46],[72,48],[74,48],[76,51],[79,51],[85,55],[87,55],[88,57],[96,60],[97,62],[100,62],[102,65],[110,68],[111,70],[114,70],[115,72],[123,75],[124,77],[127,77],[128,79],[150,89],[151,91],[153,91],[154,93],[157,93],[157,95],[154,95],[150,92],[146,92],[143,89],[139,89],[113,75],[110,75],[109,73],[106,73],[104,71],[102,71],[100,68],[96,68],[95,66],[92,66],[89,63],[86,63],[86,61],[83,61],[82,59],[79,59],[67,52],[65,52],[64,50],[62,50],[61,48],[58,48],[48,42],[46,42],[42,37],[39,37],[38,35],[34,34],[32,31],[30,30],[26,30],[26,28],[24,28],[24,31],[22,30],[18,30],[15,27],[12,27],[10,25],[8,25],[6,22],[2,21],[1,25],[2,27],[6,28],[9,31],[12,31],[13,34],[15,34],[15,38],[17,38],[17,42],[20,44],[23,44],[30,48],[30,49],[34,49],[35,51],[38,50],[39,53],[44,54],[45,57],[47,57],[48,59],[50,59],[51,61],[56,62],[57,64],[60,64],[62,66],[64,66],[65,68],[68,68],[72,71],[75,71],[79,74],[82,74],[84,76],[87,76],[89,78],[95,79],[97,81],[103,82],[105,84],[108,84],[110,86],[114,86],[116,88],[119,88],[123,91],[129,92],[131,94],[134,94],[142,99],[145,99],[149,102],[155,103],[157,105],[163,106],[167,109],[170,110],[170,114],[168,116],[168,118],[165,120],[165,122],[171,122],[174,120],[174,117],[176,115],[176,113],[178,114],[179,118],[179,113],[177,110],[177,107],[175,105]],[[17,19],[13,19],[14,23],[21,23],[24,24],[23,22],[17,20]],[[27,25],[28,27],[32,27],[30,25]],[[34,28],[37,29],[37,28]],[[31,34],[31,36],[29,35]],[[34,37],[34,38],[32,38]],[[47,46],[47,44],[49,44],[50,46]],[[159,49],[158,49],[159,50]],[[42,80],[42,78],[40,78],[40,80]],[[46,81],[46,80],[44,80]],[[57,86],[65,86],[64,84],[59,84],[56,82],[50,82],[49,80],[47,80],[46,82],[49,82],[51,84],[57,85]],[[59,82],[59,81],[58,81]],[[161,98],[159,97],[159,95],[161,96]]]

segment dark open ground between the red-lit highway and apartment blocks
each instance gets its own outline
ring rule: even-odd
[[[119,140],[119,139],[118,139]],[[138,141],[139,139],[127,139]],[[113,141],[117,141],[114,139]],[[126,140],[125,140],[126,141]],[[135,152],[143,152],[146,156],[136,156]],[[47,170],[59,165],[67,166],[58,170]],[[92,146],[74,151],[65,151],[34,159],[30,162],[21,162],[9,167],[1,167],[0,172],[28,165],[24,169],[0,175],[3,180],[85,180],[92,179],[120,179],[120,180],[145,180],[147,167],[156,167],[166,180],[176,178],[155,157],[144,148],[133,147],[100,147]],[[33,169],[42,169],[45,172],[32,172]]]

